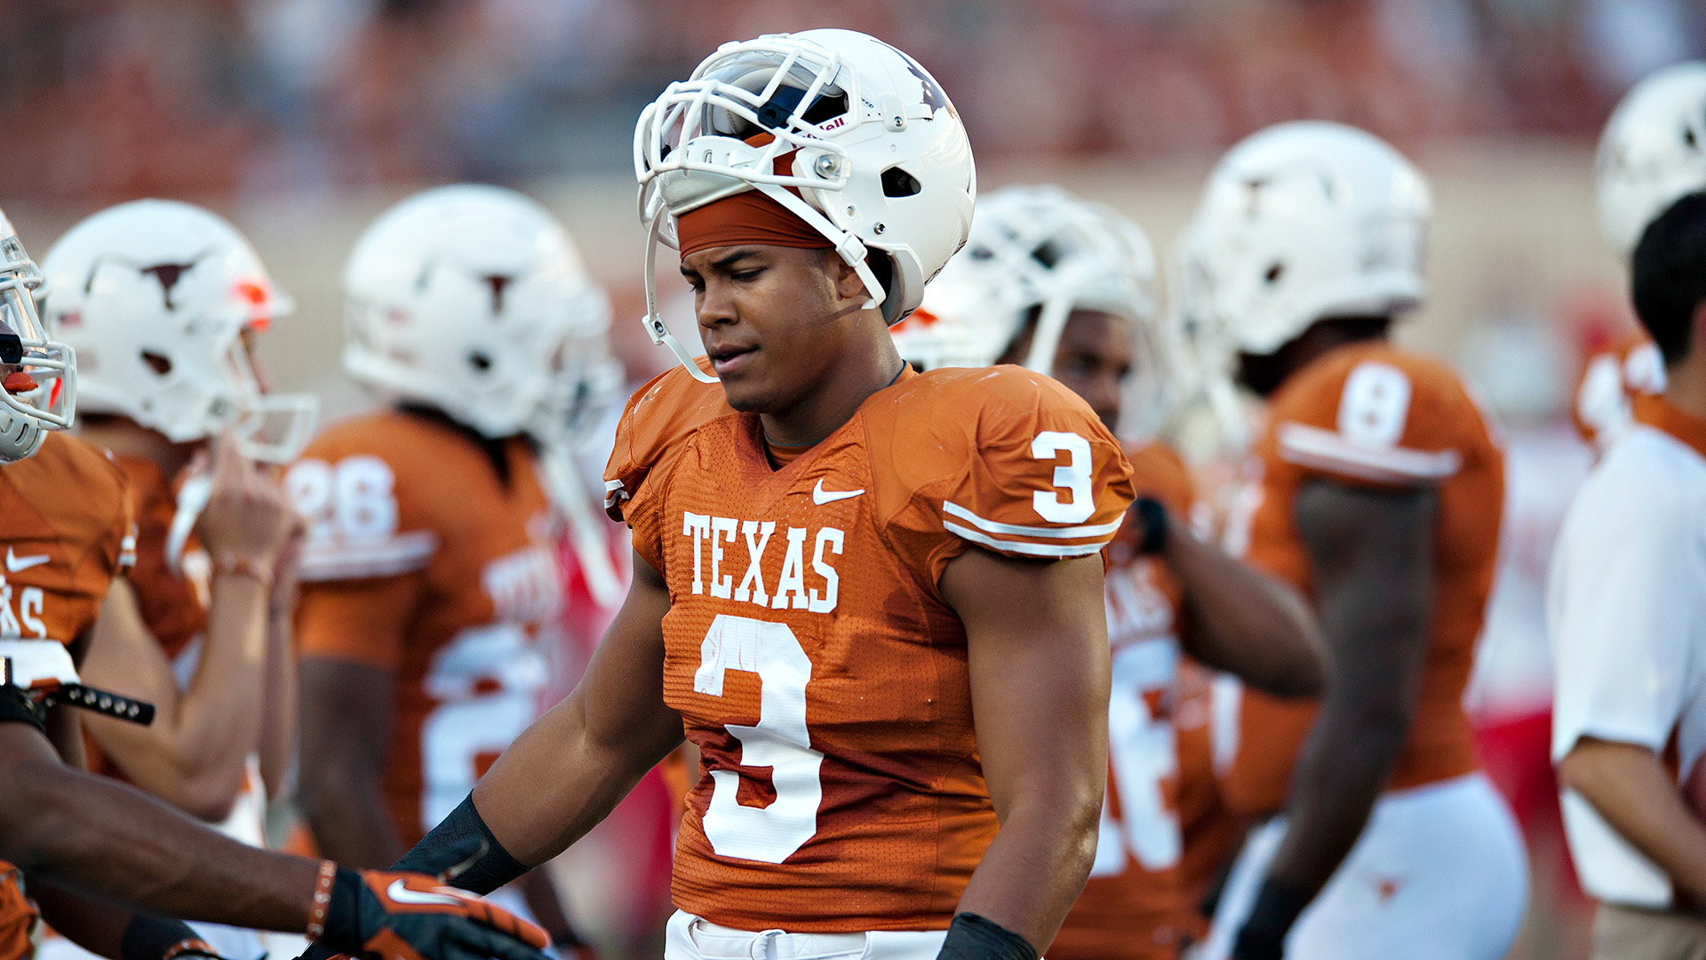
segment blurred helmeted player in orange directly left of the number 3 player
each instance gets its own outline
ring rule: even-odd
[[[544,709],[561,523],[527,430],[570,415],[609,306],[549,212],[471,184],[382,214],[345,290],[345,367],[394,407],[334,424],[285,480],[309,523],[300,796],[322,852],[384,866]],[[527,883],[512,909],[578,946],[546,873]]]

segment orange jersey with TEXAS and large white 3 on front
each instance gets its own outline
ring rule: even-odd
[[[937,584],[972,547],[1099,553],[1131,500],[1107,429],[1018,367],[908,369],[773,470],[759,419],[674,369],[628,401],[606,489],[669,584],[664,699],[699,746],[676,905],[947,928],[996,818]]]

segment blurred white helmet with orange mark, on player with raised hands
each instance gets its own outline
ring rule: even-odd
[[[80,359],[85,412],[172,442],[232,427],[246,456],[273,463],[302,451],[319,401],[264,393],[242,342],[293,304],[229,222],[174,200],[121,203],[60,237],[43,272],[49,323]]]

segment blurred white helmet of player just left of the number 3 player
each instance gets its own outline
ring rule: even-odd
[[[543,429],[554,376],[578,376],[583,345],[609,326],[563,225],[498,186],[440,186],[386,210],[343,284],[350,376],[488,437]]]

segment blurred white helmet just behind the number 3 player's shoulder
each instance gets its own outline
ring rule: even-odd
[[[918,313],[894,326],[894,345],[918,369],[988,367],[1036,314],[1020,362],[1049,374],[1075,309],[1131,321],[1134,389],[1126,407],[1158,424],[1172,371],[1155,326],[1155,249],[1129,219],[1058,186],[1008,186],[983,196],[966,248],[925,290]]]

